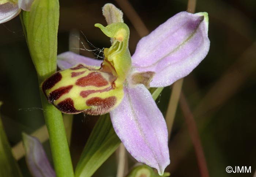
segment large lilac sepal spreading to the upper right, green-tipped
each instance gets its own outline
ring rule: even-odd
[[[210,47],[208,15],[180,12],[142,38],[132,56],[138,72],[155,72],[151,87],[168,86],[187,76]]]

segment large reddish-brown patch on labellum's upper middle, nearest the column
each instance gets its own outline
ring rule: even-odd
[[[79,86],[106,86],[108,81],[99,72],[91,72],[87,76],[81,77],[76,81],[76,85]]]

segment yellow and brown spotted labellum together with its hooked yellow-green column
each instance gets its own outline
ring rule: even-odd
[[[48,101],[64,113],[101,115],[114,109],[124,97],[123,85],[131,70],[129,28],[121,22],[95,26],[114,39],[112,46],[103,51],[101,67],[79,64],[42,83]]]

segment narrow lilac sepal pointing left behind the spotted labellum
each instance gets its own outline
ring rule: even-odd
[[[71,51],[67,51],[57,55],[57,65],[61,70],[71,68],[72,66],[75,66],[77,64],[85,64],[89,66],[99,67],[101,66],[101,63],[102,60],[84,57]]]

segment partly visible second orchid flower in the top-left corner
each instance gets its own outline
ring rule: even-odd
[[[30,11],[34,0],[0,0],[0,23],[7,22],[19,15],[21,9]]]

